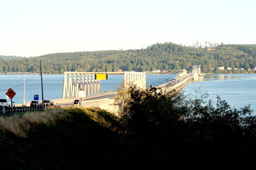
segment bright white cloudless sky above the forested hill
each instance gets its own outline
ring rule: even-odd
[[[0,55],[256,44],[256,0],[0,0]]]

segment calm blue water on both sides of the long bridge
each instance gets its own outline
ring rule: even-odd
[[[157,86],[175,77],[175,74],[146,75],[149,86]],[[122,75],[108,75],[108,80],[101,80],[101,91],[114,91],[123,81]],[[44,99],[62,98],[63,75],[43,75]],[[5,92],[12,88],[16,92],[15,103],[23,103],[23,75],[0,75],[0,98],[5,98]],[[195,91],[207,92],[209,99],[215,100],[219,95],[232,107],[241,108],[250,104],[256,111],[256,75],[255,74],[206,74],[203,81],[189,83],[183,91],[195,95]],[[41,100],[40,75],[25,75],[25,100],[33,100],[38,94]]]

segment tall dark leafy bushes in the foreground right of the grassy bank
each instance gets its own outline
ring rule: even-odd
[[[147,169],[245,169],[253,167],[256,116],[250,106],[231,108],[217,96],[191,99],[175,91],[131,87],[119,110],[124,139]],[[139,169],[138,168],[138,169]]]

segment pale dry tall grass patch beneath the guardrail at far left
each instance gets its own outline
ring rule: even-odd
[[[35,131],[39,124],[54,125],[56,120],[64,119],[68,112],[63,109],[52,109],[44,112],[27,112],[23,115],[1,117],[0,126],[19,137],[26,137],[28,131]]]

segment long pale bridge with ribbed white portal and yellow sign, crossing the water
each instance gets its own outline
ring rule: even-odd
[[[188,83],[201,81],[203,78],[199,65],[194,65],[189,74],[186,73],[186,70],[182,70],[173,80],[156,86],[156,88],[179,91]],[[78,99],[81,101],[80,105],[83,107],[100,107],[113,112],[118,110],[118,107],[113,105],[116,92],[101,92],[100,87],[100,79],[107,79],[107,75],[113,74],[123,75],[123,85],[125,88],[131,84],[142,89],[146,88],[145,72],[64,72],[62,99],[52,99],[54,104],[58,104],[58,106],[54,107],[60,107],[60,105],[62,105],[61,107],[67,107],[66,105],[73,105],[73,101]],[[24,108],[16,108],[16,110],[24,111]],[[30,110],[32,111],[34,109]],[[25,111],[30,110],[29,108],[25,109]],[[4,113],[1,110],[0,113],[2,114],[2,112]]]

